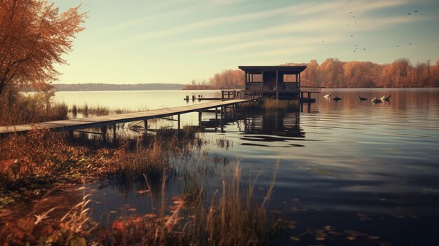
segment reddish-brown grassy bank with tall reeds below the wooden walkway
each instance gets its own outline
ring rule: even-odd
[[[102,226],[91,219],[92,200],[85,188],[79,188],[84,192],[81,201],[70,209],[54,204],[46,210],[32,209],[24,217],[10,217],[1,226],[0,242],[13,245],[27,242],[32,245],[266,245],[276,231],[276,224],[267,212],[273,183],[258,204],[253,198],[256,181],[250,180],[245,187],[238,166],[234,175],[222,178],[222,189],[213,194],[206,193],[204,187],[207,168],[179,172],[185,188],[180,196],[166,199],[167,180],[177,175],[170,157],[191,156],[205,141],[194,128],[180,132],[164,130],[140,139],[134,146],[127,143],[119,148],[93,149],[47,130],[1,139],[2,191],[80,184],[83,177],[112,179],[124,184],[147,182],[149,200],[156,207],[151,208],[149,214],[122,217],[109,226]],[[152,189],[152,184],[161,188]],[[39,203],[47,203],[48,197],[43,196]],[[60,211],[65,214],[55,215]]]

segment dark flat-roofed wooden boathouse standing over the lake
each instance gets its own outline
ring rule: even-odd
[[[244,71],[244,98],[301,98],[300,73],[306,66],[239,66]]]

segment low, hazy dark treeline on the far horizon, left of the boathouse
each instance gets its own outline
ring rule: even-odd
[[[137,83],[137,84],[109,84],[109,83],[55,83],[52,84],[57,91],[83,91],[83,90],[181,90],[184,85],[180,83]]]

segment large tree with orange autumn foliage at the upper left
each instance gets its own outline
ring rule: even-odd
[[[49,87],[83,30],[79,7],[60,13],[44,0],[0,0],[0,95],[6,86]]]

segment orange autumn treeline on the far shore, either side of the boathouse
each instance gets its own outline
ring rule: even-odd
[[[373,62],[342,62],[328,58],[322,64],[311,60],[308,64],[287,63],[281,65],[306,65],[301,74],[303,86],[326,88],[393,88],[393,87],[439,87],[439,60],[431,64],[412,64],[400,58],[391,64]],[[243,88],[243,71],[224,70],[208,81],[192,81],[183,89],[233,89]]]

